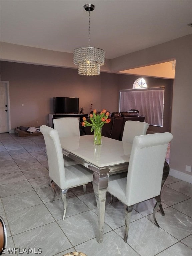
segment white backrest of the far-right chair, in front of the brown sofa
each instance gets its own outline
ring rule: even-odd
[[[122,141],[133,143],[135,136],[145,135],[149,127],[148,123],[139,121],[126,121]]]

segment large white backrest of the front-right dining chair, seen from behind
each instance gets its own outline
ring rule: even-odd
[[[163,166],[168,143],[172,138],[169,132],[134,138],[125,195],[128,205],[160,195]]]

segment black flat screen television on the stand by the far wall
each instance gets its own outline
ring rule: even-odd
[[[54,97],[54,113],[79,113],[79,98]]]

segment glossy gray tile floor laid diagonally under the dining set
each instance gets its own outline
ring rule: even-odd
[[[57,190],[53,203],[48,187],[48,163],[43,136],[1,134],[1,216],[6,221],[8,247],[42,248],[46,256],[82,251],[88,256],[192,256],[192,184],[169,176],[162,205],[153,222],[154,200],[135,205],[128,242],[123,241],[124,210],[106,201],[103,243],[96,241],[97,208],[92,185],[71,189],[67,213]],[[37,252],[37,251],[36,251]],[[17,254],[19,255],[19,254]],[[31,254],[31,255],[36,255]]]

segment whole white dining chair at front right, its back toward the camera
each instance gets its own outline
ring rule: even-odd
[[[118,198],[125,208],[125,242],[134,204],[160,195],[167,146],[172,137],[169,132],[136,136],[131,149],[127,177],[126,173],[109,176],[107,191]],[[157,203],[161,203],[160,196]],[[158,224],[157,221],[155,223]]]

